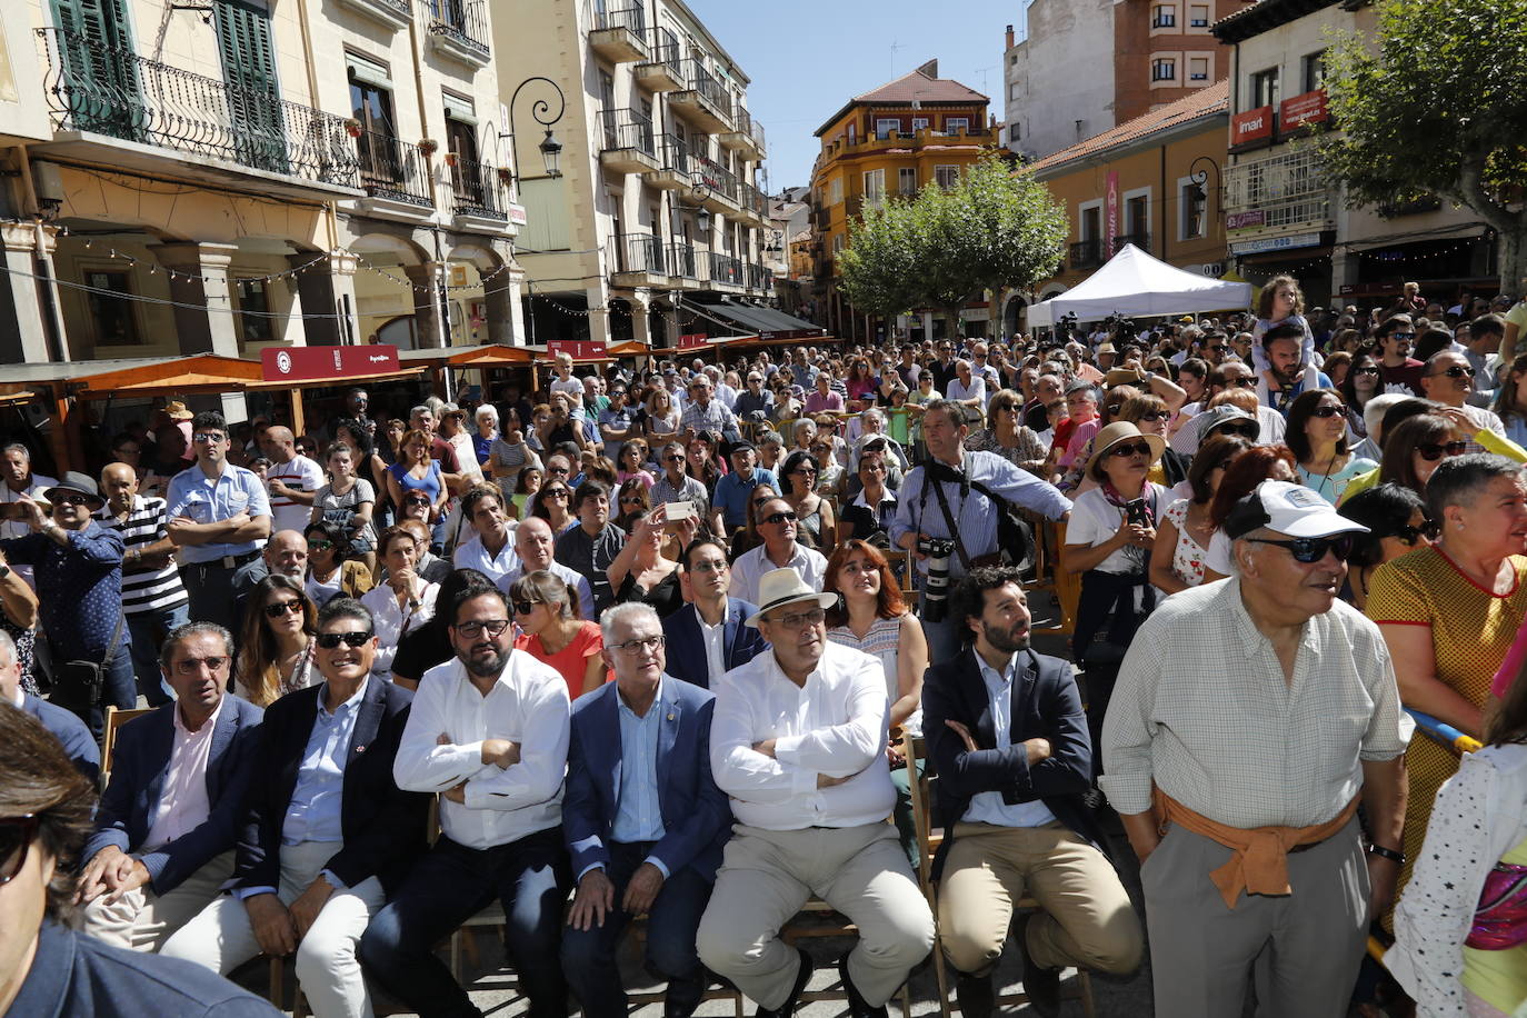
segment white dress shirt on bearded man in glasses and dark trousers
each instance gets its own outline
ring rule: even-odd
[[[466,803],[440,800],[446,836],[469,849],[518,841],[562,823],[571,716],[567,679],[528,653],[508,653],[487,696],[460,659],[447,661],[418,682],[392,778],[408,792],[447,792],[466,781]],[[483,763],[487,739],[518,743],[519,763]]]

